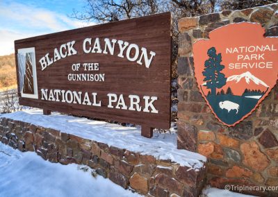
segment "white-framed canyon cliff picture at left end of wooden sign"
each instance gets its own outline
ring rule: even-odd
[[[37,78],[35,71],[35,49],[19,49],[17,53],[19,85],[22,97],[38,98]]]

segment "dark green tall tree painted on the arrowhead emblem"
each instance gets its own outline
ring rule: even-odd
[[[206,88],[211,89],[211,96],[216,96],[216,88],[221,88],[226,84],[227,78],[220,71],[224,69],[221,65],[221,53],[216,54],[215,47],[208,49],[208,60],[204,62],[204,71],[202,74],[205,76]]]

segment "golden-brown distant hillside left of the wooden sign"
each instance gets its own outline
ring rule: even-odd
[[[15,54],[0,56],[0,91],[17,85]]]

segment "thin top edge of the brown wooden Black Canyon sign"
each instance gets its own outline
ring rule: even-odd
[[[58,33],[67,33],[67,32],[71,32],[71,31],[78,31],[78,30],[81,30],[81,29],[85,30],[85,29],[88,29],[88,28],[97,28],[99,26],[111,25],[111,24],[115,24],[115,23],[120,24],[120,23],[127,22],[127,21],[132,22],[132,21],[135,21],[135,20],[138,20],[138,19],[147,19],[147,18],[158,17],[158,16],[165,16],[165,17],[169,16],[170,19],[172,17],[171,12],[162,12],[162,13],[158,13],[158,14],[154,14],[154,15],[148,15],[148,16],[145,16],[145,17],[134,17],[132,19],[124,19],[124,20],[120,20],[120,21],[117,21],[117,22],[96,24],[96,25],[93,25],[93,26],[85,26],[85,27],[74,28],[74,29],[70,29],[70,30],[66,30],[66,31],[58,31],[58,32],[55,32],[55,33],[47,33],[47,34],[44,34],[44,35],[36,35],[36,36],[33,36],[33,37],[26,37],[26,38],[23,38],[23,39],[15,40],[15,44],[19,44],[19,43],[22,43],[22,42],[29,42],[29,41],[33,41],[33,40],[37,40],[37,39],[49,38],[49,37],[51,37],[53,35],[56,35]]]

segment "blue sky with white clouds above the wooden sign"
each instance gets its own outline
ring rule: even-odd
[[[83,6],[83,0],[0,0],[0,55],[14,53],[18,39],[95,24],[69,17]]]

